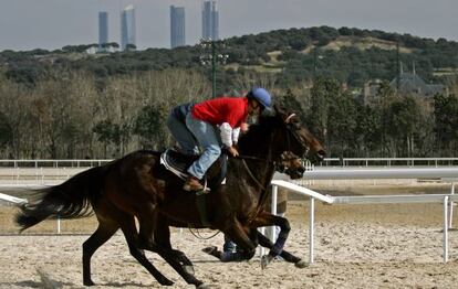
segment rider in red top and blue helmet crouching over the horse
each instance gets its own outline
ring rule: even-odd
[[[175,107],[167,126],[185,153],[202,153],[189,168],[184,190],[201,191],[200,180],[221,154],[221,143],[233,157],[240,129],[247,130],[247,117],[260,114],[271,106],[271,96],[264,88],[253,88],[244,97],[220,97],[196,105]],[[219,128],[220,138],[216,128]]]

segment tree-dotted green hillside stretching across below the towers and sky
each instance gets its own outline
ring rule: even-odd
[[[361,86],[373,78],[391,81],[397,72],[397,52],[404,67],[415,65],[426,82],[443,82],[456,75],[458,43],[445,39],[423,39],[409,34],[386,33],[360,29],[330,26],[275,30],[256,35],[230,38],[219,46],[219,53],[229,56],[219,66],[223,84],[233,85],[231,78],[247,72],[273,73],[283,86],[312,79],[318,75]],[[116,43],[113,44],[114,46]],[[93,44],[65,46],[56,51],[3,51],[0,64],[8,78],[33,83],[49,69],[90,71],[98,78],[112,75],[166,68],[196,69],[207,73],[200,58],[209,54],[199,45],[175,50],[148,49],[144,51],[89,54]],[[438,73],[447,72],[447,73]]]

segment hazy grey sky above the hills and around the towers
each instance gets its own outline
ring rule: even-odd
[[[330,25],[458,41],[458,0],[218,0],[220,38]],[[119,43],[119,14],[136,8],[138,49],[169,47],[169,7],[186,11],[186,43],[201,36],[202,0],[0,0],[0,51],[97,42],[98,11]]]

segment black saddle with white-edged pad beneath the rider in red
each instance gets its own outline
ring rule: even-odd
[[[167,149],[160,154],[160,164],[168,171],[186,180],[188,178],[187,170],[200,156],[189,156],[173,149]],[[217,165],[220,163],[220,165]],[[217,168],[220,167],[220,168]],[[208,169],[205,175],[205,182],[210,190],[218,188],[226,179],[227,173],[227,154],[221,153],[217,161]]]

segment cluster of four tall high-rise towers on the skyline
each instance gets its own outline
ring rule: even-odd
[[[204,1],[202,39],[219,40],[219,12],[216,1]],[[98,12],[98,49],[105,50],[108,43],[108,12]],[[126,7],[121,12],[121,50],[136,46],[135,8]],[[185,8],[170,6],[170,47],[186,45]]]

